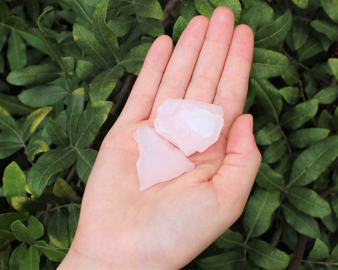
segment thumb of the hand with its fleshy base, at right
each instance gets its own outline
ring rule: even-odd
[[[261,154],[252,133],[252,116],[241,115],[229,132],[223,165],[212,178],[220,216],[226,219],[223,220],[226,224],[235,222],[241,215],[260,163]]]

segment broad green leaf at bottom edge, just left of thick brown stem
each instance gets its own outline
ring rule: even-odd
[[[285,252],[259,239],[249,241],[246,250],[252,262],[267,270],[283,270],[290,261]]]

